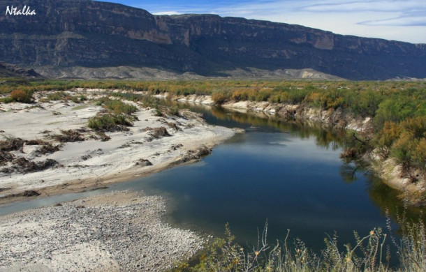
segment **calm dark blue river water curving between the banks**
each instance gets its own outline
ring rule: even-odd
[[[310,248],[324,248],[335,232],[341,243],[354,243],[353,231],[365,236],[385,228],[385,209],[395,217],[402,203],[397,192],[340,158],[342,131],[284,121],[265,114],[182,105],[202,112],[207,122],[244,128],[216,146],[210,156],[108,189],[10,204],[0,214],[46,206],[110,190],[143,190],[168,204],[172,225],[221,235],[226,222],[237,241],[254,244],[268,222],[270,241],[300,238]],[[415,213],[415,211],[413,211]]]

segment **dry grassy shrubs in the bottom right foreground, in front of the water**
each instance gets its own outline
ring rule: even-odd
[[[318,254],[295,239],[268,244],[267,225],[257,245],[244,249],[226,225],[225,238],[216,238],[199,256],[196,264],[179,264],[173,271],[426,271],[426,236],[423,222],[402,219],[402,238],[381,228],[366,236],[354,232],[355,245],[341,245],[337,234],[325,238],[325,248]],[[397,249],[399,267],[390,266],[390,246]]]

